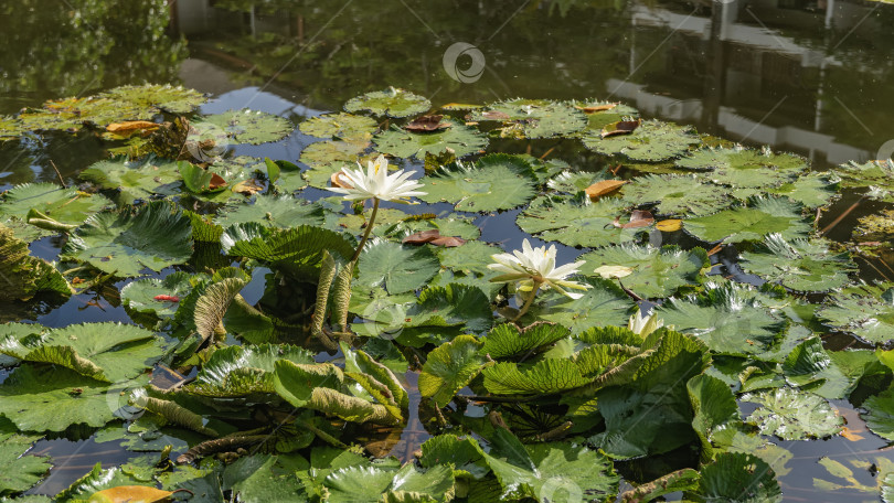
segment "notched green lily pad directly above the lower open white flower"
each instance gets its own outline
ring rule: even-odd
[[[615,227],[615,218],[626,205],[609,197],[590,202],[589,197],[540,196],[523,210],[515,223],[522,231],[543,240],[568,246],[599,247],[636,239],[641,228]]]

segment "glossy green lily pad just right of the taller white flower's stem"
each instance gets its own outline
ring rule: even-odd
[[[427,247],[368,243],[360,254],[356,281],[364,288],[381,286],[391,295],[404,293],[422,288],[439,268],[437,257]]]

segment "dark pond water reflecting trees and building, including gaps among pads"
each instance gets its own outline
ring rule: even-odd
[[[885,159],[894,152],[894,6],[842,0],[698,2],[555,0],[21,0],[0,7],[0,114],[46,99],[86,96],[125,84],[173,83],[212,95],[203,114],[251,107],[295,122],[341,109],[350,98],[389,86],[436,106],[514,97],[622,101],[643,117],[691,125],[700,132],[801,154],[815,169]],[[297,161],[319,141],[297,130],[287,139],[237,146],[233,154]],[[493,147],[493,143],[492,143]],[[593,152],[563,140],[509,141],[497,149],[562,159],[596,171]],[[20,183],[78,183],[106,156],[91,135],[50,136],[0,147],[0,190]],[[306,191],[308,199],[328,194]],[[847,192],[819,220],[845,242],[861,216],[887,207]],[[450,210],[447,204],[412,212]],[[528,235],[519,210],[478,217],[481,239],[504,249]],[[842,214],[847,215],[838,220]],[[58,238],[31,245],[54,259]],[[560,263],[582,252],[560,246]],[[858,260],[860,278],[894,278],[894,256]],[[256,275],[256,279],[258,276]],[[120,288],[127,281],[114,285]],[[258,283],[243,292],[249,303]],[[115,290],[111,288],[110,290]],[[252,290],[255,288],[255,290]],[[61,306],[0,304],[0,320],[46,327],[121,321],[130,317],[116,291],[92,291]],[[830,336],[831,349],[869,347]],[[408,374],[411,378],[415,374]],[[413,383],[415,385],[415,383]],[[392,453],[407,459],[427,434],[411,402],[409,424]],[[786,501],[876,501],[841,489],[819,491],[829,478],[817,461],[894,460],[887,442],[866,431],[847,400],[834,405],[854,436],[780,441],[794,458],[779,474]],[[743,411],[749,411],[743,404]],[[862,438],[861,438],[862,437]],[[55,468],[32,492],[54,494],[96,461],[127,453],[92,440],[42,440]],[[627,470],[625,472],[625,470]],[[659,468],[660,470],[660,468]],[[647,473],[635,465],[625,474]],[[659,472],[661,474],[663,472]],[[870,471],[854,469],[874,486]],[[649,480],[648,477],[643,479]],[[840,482],[840,481],[839,481]]]

